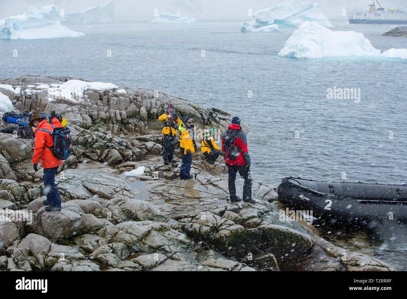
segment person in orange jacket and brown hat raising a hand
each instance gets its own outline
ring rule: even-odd
[[[55,111],[52,111],[50,119],[55,127],[62,127],[61,123],[56,117]],[[60,211],[61,210],[61,195],[57,185],[55,184],[55,175],[59,165],[62,164],[62,160],[54,157],[51,149],[54,146],[54,137],[47,131],[53,132],[54,128],[51,124],[48,124],[46,118],[40,113],[35,113],[31,117],[29,123],[31,127],[35,127],[35,142],[34,142],[34,155],[32,162],[35,172],[38,171],[38,162],[41,161],[41,167],[44,168],[44,191],[46,194],[46,200],[43,201],[45,210],[47,212]],[[47,130],[47,131],[44,131]]]

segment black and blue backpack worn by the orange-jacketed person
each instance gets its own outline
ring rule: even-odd
[[[71,130],[68,127],[55,127],[50,124],[54,130],[48,131],[47,129],[38,129],[38,131],[45,131],[54,136],[54,146],[46,146],[55,158],[59,160],[66,160],[73,152],[72,139],[70,136]]]

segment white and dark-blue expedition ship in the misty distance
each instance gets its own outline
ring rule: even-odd
[[[377,1],[380,8],[376,9],[376,5],[370,4],[369,11],[358,11],[349,13],[350,24],[407,24],[407,7],[405,9],[387,7],[387,9],[381,7],[379,1]]]

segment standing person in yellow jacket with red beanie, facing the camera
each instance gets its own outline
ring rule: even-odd
[[[174,105],[168,105],[166,113],[158,117],[158,120],[164,122],[162,133],[164,134],[164,148],[162,150],[162,158],[164,165],[177,162],[174,160],[175,134],[177,126],[182,123],[177,114],[175,114]]]

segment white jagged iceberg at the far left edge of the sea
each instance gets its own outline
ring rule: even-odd
[[[56,37],[81,37],[83,33],[61,25],[61,17],[53,5],[41,10],[30,6],[28,14],[0,20],[0,39],[40,39]]]

